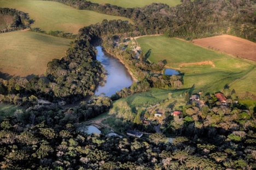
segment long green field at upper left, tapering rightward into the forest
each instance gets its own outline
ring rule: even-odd
[[[59,2],[33,0],[0,0],[0,7],[15,8],[30,15],[32,28],[44,31],[63,31],[77,34],[79,29],[102,20],[128,20],[125,17],[105,15],[89,10],[78,10]]]

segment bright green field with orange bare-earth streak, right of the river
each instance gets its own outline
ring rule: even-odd
[[[251,72],[254,69],[253,62],[164,36],[142,37],[137,41],[144,54],[150,53],[150,62],[166,60],[167,67],[184,72],[184,88],[193,87],[193,92],[202,90],[213,93],[236,80],[232,88],[240,89],[241,92],[251,89],[249,92],[256,94],[256,90],[251,87],[255,83],[254,79],[251,83],[245,83],[245,88],[238,84],[247,74],[251,73],[255,77],[255,72]]]

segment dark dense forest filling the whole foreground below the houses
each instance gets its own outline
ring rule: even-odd
[[[86,135],[81,122],[109,109],[109,98],[63,110],[57,105],[18,110],[2,120],[0,162],[3,169],[255,169],[255,108],[227,105],[214,95],[206,105],[185,105],[179,116],[166,114],[165,133],[142,138]],[[166,102],[166,101],[164,101]],[[120,113],[119,113],[120,114]],[[121,115],[124,130],[152,131],[152,125]]]

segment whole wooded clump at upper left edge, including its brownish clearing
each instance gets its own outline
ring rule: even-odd
[[[16,9],[9,9],[9,8],[0,8],[0,33],[16,31],[18,29],[25,29],[30,27],[31,23],[33,22],[30,17],[21,11]],[[6,20],[4,20],[6,18]],[[4,26],[2,26],[4,25]]]

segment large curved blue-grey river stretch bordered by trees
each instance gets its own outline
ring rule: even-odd
[[[107,71],[107,78],[103,86],[97,87],[95,94],[104,93],[106,96],[111,96],[124,87],[130,87],[132,77],[125,66],[118,59],[104,53],[101,46],[97,46],[96,49],[98,51],[97,60],[101,62]]]

